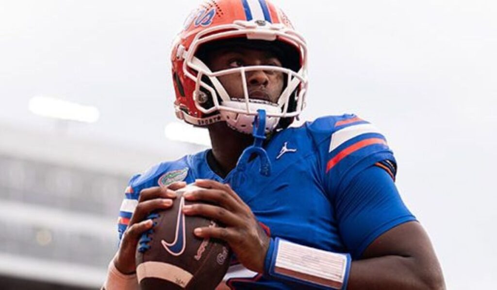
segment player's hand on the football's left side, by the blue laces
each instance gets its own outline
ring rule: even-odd
[[[176,198],[174,191],[185,186],[184,182],[176,182],[168,187],[153,187],[140,192],[138,205],[131,216],[114,258],[114,265],[119,272],[126,275],[136,272],[135,255],[138,241],[153,224],[152,220],[146,219],[147,216],[154,210],[171,207],[172,199]]]

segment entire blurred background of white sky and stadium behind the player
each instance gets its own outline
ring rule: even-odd
[[[309,43],[303,119],[380,127],[448,289],[494,288],[497,2],[274,2]],[[169,64],[198,3],[0,0],[1,289],[99,288],[128,179],[208,146]]]

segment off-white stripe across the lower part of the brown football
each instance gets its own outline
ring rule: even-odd
[[[148,261],[138,265],[136,276],[138,277],[138,283],[145,278],[157,278],[174,283],[181,288],[185,288],[193,278],[190,272],[177,266],[155,261]]]

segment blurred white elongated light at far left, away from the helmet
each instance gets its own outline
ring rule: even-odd
[[[34,114],[44,117],[85,123],[96,122],[100,115],[96,107],[43,96],[32,97],[29,100],[29,110]]]

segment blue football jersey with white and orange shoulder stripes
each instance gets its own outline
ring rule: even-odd
[[[259,174],[260,160],[255,158],[241,184],[232,182],[235,171],[226,178],[214,173],[207,164],[208,150],[134,176],[120,210],[119,237],[141,190],[196,179],[232,185],[271,237],[349,253],[353,259],[382,233],[415,219],[393,185],[397,167],[385,137],[355,115],[326,116],[278,131],[264,149],[271,174]],[[230,267],[225,280],[232,289],[298,288],[239,264]]]

